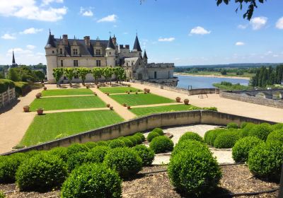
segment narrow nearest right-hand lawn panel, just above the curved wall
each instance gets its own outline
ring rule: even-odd
[[[175,112],[175,111],[185,111],[185,110],[200,110],[200,107],[195,107],[193,105],[168,105],[168,106],[158,106],[158,107],[140,107],[133,108],[130,111],[135,115],[151,115],[157,112]]]

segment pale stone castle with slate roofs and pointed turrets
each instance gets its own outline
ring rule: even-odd
[[[134,47],[129,50],[129,45],[117,45],[117,38],[109,40],[91,40],[90,36],[79,40],[76,37],[69,39],[68,35],[62,38],[54,38],[50,33],[45,46],[47,59],[47,81],[55,83],[52,75],[53,69],[57,67],[115,67],[122,66],[125,69],[127,80],[149,81],[163,83],[164,85],[177,86],[178,78],[173,77],[173,63],[148,63],[146,51],[142,55],[139,39],[136,36]],[[115,76],[113,76],[115,78]],[[67,82],[67,78],[62,77]],[[77,76],[74,82],[81,80]],[[92,82],[93,76],[88,74],[86,82]]]

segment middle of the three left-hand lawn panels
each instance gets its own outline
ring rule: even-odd
[[[97,107],[105,107],[105,103],[95,95],[39,98],[33,100],[33,103],[30,104],[31,111],[35,111],[37,108],[44,108],[44,110],[71,110]]]

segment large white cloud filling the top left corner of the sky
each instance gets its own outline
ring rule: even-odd
[[[60,0],[47,0],[47,2],[59,2]],[[61,2],[61,1],[60,1]],[[49,4],[48,3],[48,4]],[[37,6],[35,0],[1,0],[0,15],[15,16],[37,21],[59,21],[67,13],[67,7],[52,8],[49,6]]]

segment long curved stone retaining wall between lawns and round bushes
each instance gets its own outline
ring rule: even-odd
[[[22,148],[18,151],[4,153],[2,155],[10,155],[11,153],[26,152],[31,150],[49,150],[50,148],[54,148],[56,146],[69,146],[73,143],[85,143],[87,141],[115,139],[119,136],[128,136],[136,132],[144,132],[156,127],[163,128],[189,124],[226,125],[229,122],[236,122],[237,124],[241,124],[242,122],[254,122],[257,124],[267,122],[270,124],[275,124],[275,122],[268,122],[265,120],[257,120],[250,117],[230,115],[209,110],[166,112],[140,117],[127,122],[112,124],[108,127],[101,127],[89,132],[83,132],[81,134],[75,134],[63,139],[49,141],[44,144]]]

